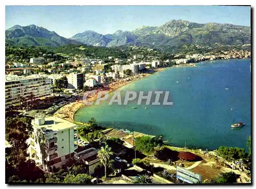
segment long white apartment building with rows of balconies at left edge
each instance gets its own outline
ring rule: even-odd
[[[51,79],[44,75],[17,76],[7,75],[5,79],[5,105],[18,104],[18,97],[35,95],[35,99],[50,97],[52,95]]]

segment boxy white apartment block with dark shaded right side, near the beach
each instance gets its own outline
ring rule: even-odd
[[[83,88],[83,73],[70,73],[67,75],[68,89],[82,89]]]

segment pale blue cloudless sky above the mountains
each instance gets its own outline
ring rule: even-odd
[[[250,7],[238,6],[6,6],[6,29],[35,24],[62,37],[92,30],[113,34],[173,19],[250,26]]]

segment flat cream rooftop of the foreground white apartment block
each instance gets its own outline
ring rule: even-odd
[[[35,120],[32,120],[31,124],[34,127],[36,127],[37,129],[45,128],[45,130],[44,130],[45,133],[65,130],[65,129],[69,129],[69,128],[76,126],[76,124],[74,124],[72,122],[66,121],[64,119],[61,119],[61,118],[58,118],[55,116],[46,117],[45,124],[43,124],[43,125],[36,125]]]

